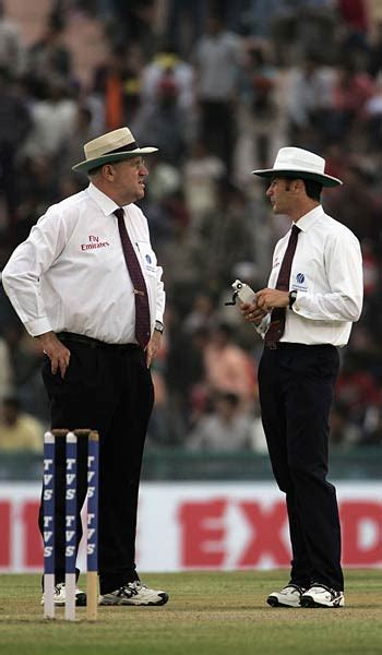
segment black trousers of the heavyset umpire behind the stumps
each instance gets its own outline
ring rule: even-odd
[[[62,337],[64,341],[64,337]],[[99,431],[99,584],[100,593],[138,580],[136,505],[143,446],[154,392],[145,354],[136,346],[64,341],[71,352],[64,380],[52,376],[46,358],[43,378],[51,404],[52,428]],[[64,440],[56,457],[56,583],[64,580]],[[77,545],[80,510],[86,496],[86,439],[79,438]],[[43,508],[39,513],[43,528]]]

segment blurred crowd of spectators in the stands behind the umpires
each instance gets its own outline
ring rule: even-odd
[[[83,143],[129,126],[141,145],[160,148],[142,202],[167,290],[150,446],[264,452],[262,343],[225,302],[238,277],[266,285],[289,228],[251,170],[272,166],[283,145],[318,152],[344,180],[323,205],[358,236],[365,266],[331,439],[342,449],[380,442],[381,0],[50,5],[28,43],[0,0],[0,270],[50,204],[87,186],[71,171]],[[79,21],[100,35],[86,70],[67,38]],[[1,290],[0,449],[38,449],[49,420],[40,364]]]

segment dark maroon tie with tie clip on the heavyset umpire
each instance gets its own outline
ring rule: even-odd
[[[144,349],[151,335],[150,307],[147,298],[147,287],[144,281],[141,264],[132,247],[128,230],[124,225],[124,212],[122,207],[115,211],[118,218],[119,236],[121,238],[123,257],[128,266],[129,275],[134,287],[135,296],[135,336],[138,343]]]

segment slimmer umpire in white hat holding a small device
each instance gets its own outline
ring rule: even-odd
[[[342,607],[341,526],[335,488],[326,480],[329,415],[338,348],[362,307],[358,239],[327,216],[322,188],[341,184],[325,160],[298,148],[279,150],[268,180],[274,214],[290,218],[275,247],[267,288],[242,305],[264,338],[259,366],[262,420],[273,472],[286,495],[291,571],[271,606]]]

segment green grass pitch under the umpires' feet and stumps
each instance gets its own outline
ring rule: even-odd
[[[382,571],[346,572],[346,607],[274,609],[285,571],[145,575],[164,607],[100,607],[98,621],[44,621],[38,575],[0,579],[0,655],[381,655]]]

